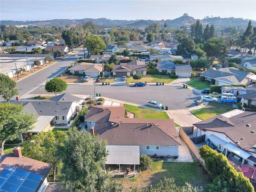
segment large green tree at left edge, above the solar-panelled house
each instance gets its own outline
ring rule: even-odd
[[[22,105],[0,103],[0,156],[4,154],[4,143],[14,140],[21,133],[33,129],[34,115],[23,113]]]

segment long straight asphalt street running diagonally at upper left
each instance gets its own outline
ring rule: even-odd
[[[60,60],[56,62],[54,65],[51,65],[41,71],[38,71],[34,75],[30,75],[21,81],[17,82],[17,89],[19,90],[19,96],[22,96],[29,91],[36,89],[36,87],[42,83],[44,83],[47,79],[53,78],[60,74],[60,72],[66,69],[73,61],[75,61],[78,57],[83,57],[82,49],[74,49],[78,51],[78,53],[71,54],[65,60]],[[75,55],[78,54],[78,57]],[[15,97],[14,97],[15,98]],[[13,99],[14,99],[13,98]],[[0,98],[0,101],[3,99]]]

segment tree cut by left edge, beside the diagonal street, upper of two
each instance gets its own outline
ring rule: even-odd
[[[17,95],[19,92],[15,89],[16,82],[5,74],[0,73],[0,96],[2,96],[7,102]]]

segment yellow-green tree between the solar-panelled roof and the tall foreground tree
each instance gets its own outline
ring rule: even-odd
[[[38,135],[35,134],[23,143],[22,154],[26,157],[51,164],[51,175],[55,182],[56,175],[59,175],[61,167],[61,161],[57,154],[57,147],[63,146],[65,138],[65,131],[49,131],[41,132]]]

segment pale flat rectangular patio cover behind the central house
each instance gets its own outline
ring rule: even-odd
[[[108,156],[105,164],[139,165],[139,146],[108,145]]]

